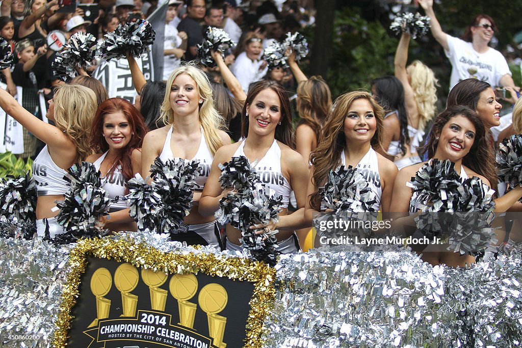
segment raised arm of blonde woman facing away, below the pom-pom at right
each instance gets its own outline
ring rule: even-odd
[[[395,51],[395,77],[399,79],[404,88],[404,101],[406,111],[411,119],[417,119],[419,110],[417,103],[415,102],[415,95],[411,88],[410,82],[408,81],[408,73],[406,71],[406,64],[408,62],[408,47],[410,45],[410,34],[402,33],[399,44],[397,45],[397,51]]]

